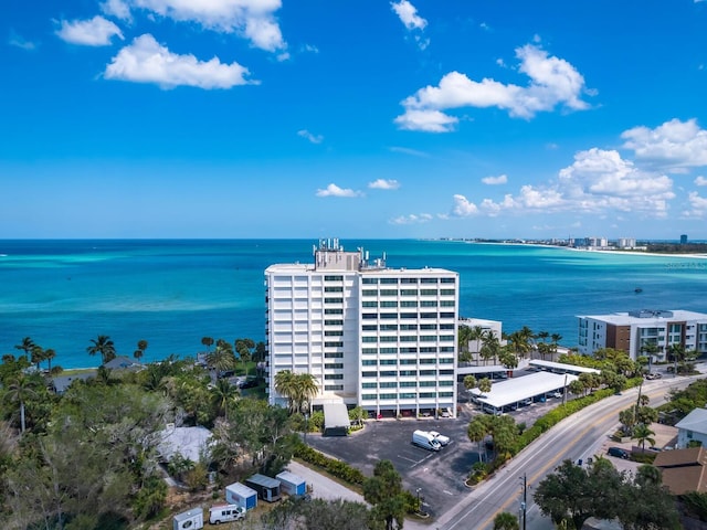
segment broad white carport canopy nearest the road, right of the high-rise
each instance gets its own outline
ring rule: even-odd
[[[513,405],[528,398],[536,395],[545,395],[549,392],[563,389],[566,384],[578,380],[577,375],[558,374],[550,372],[538,372],[531,375],[509,379],[502,383],[495,383],[490,388],[490,392],[481,398],[482,392],[478,389],[472,389],[472,394],[476,395],[479,403],[500,409],[505,405]]]

